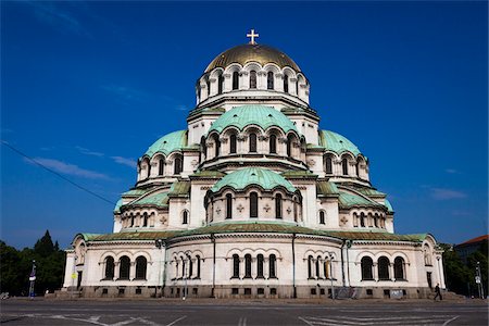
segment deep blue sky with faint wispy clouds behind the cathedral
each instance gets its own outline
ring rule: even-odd
[[[322,128],[368,156],[396,231],[461,242],[488,227],[487,16],[482,1],[2,1],[1,139],[116,202],[254,28],[308,76]],[[111,203],[0,149],[2,240],[112,230]]]

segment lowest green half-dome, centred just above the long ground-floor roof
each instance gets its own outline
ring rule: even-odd
[[[216,192],[224,187],[243,190],[250,185],[260,186],[265,190],[272,190],[276,187],[284,187],[290,192],[297,190],[290,181],[286,180],[278,173],[260,167],[246,167],[224,176],[211,188],[211,191]]]

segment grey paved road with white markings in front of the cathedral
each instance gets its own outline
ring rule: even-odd
[[[300,302],[300,301],[299,301]],[[465,302],[335,303],[228,300],[141,301],[1,301],[1,323],[68,326],[184,325],[488,325],[488,305]]]

